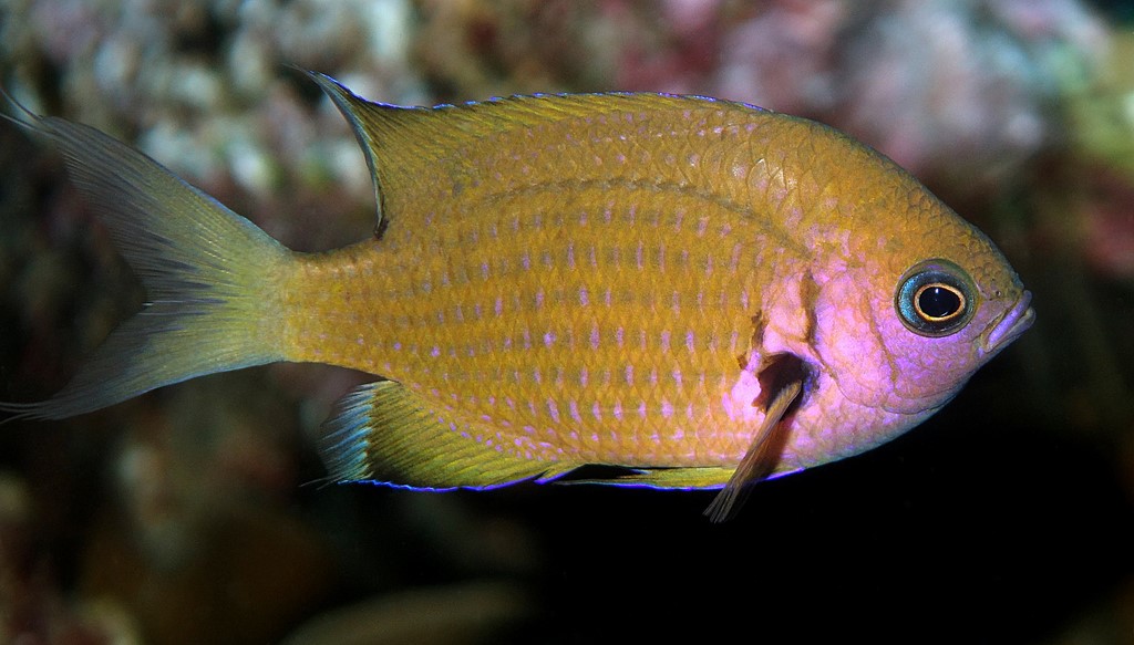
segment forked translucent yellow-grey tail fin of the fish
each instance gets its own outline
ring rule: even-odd
[[[71,180],[142,279],[147,302],[59,393],[41,402],[0,404],[0,413],[58,419],[281,358],[272,303],[290,257],[286,247],[105,134],[24,114],[6,119],[59,147]]]

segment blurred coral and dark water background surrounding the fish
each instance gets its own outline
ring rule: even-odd
[[[399,104],[663,91],[818,119],[1005,251],[1032,331],[862,457],[711,493],[323,486],[365,375],[276,365],[0,427],[0,642],[1134,643],[1134,6],[1075,0],[0,0],[0,85],[293,248],[370,235],[295,67]],[[0,122],[0,400],[142,302],[52,151]],[[729,636],[733,637],[733,636]]]

